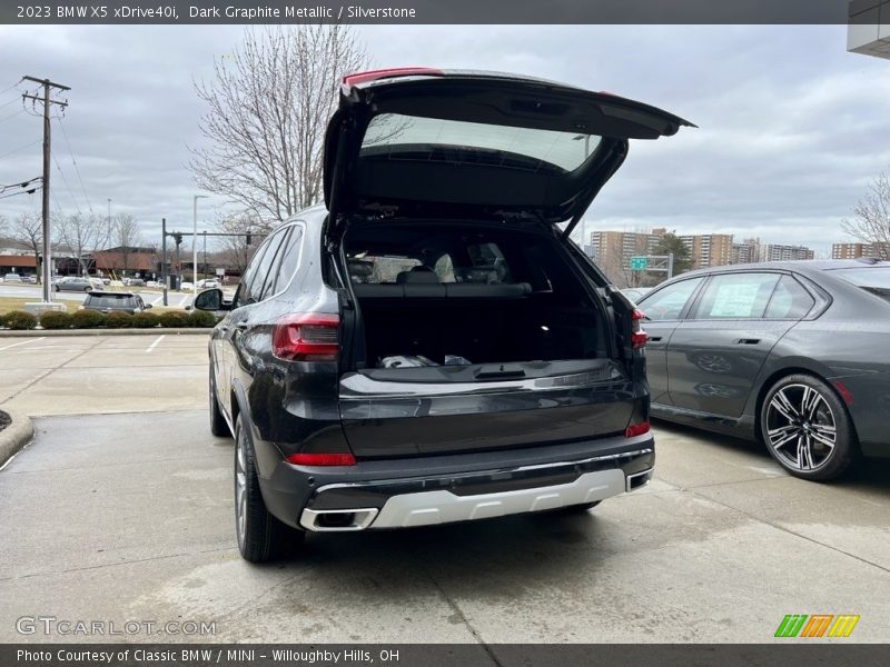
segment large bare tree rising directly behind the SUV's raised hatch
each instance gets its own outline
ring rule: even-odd
[[[210,147],[192,149],[189,165],[198,186],[275,220],[316,203],[338,84],[367,63],[348,27],[247,30],[212,80],[195,83],[209,106],[199,127]]]

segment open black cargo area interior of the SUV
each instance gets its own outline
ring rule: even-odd
[[[350,230],[364,367],[603,358],[602,311],[561,242],[466,225]]]

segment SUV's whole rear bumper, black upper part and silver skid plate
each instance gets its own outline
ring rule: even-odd
[[[651,434],[404,461],[352,469],[281,464],[260,480],[280,520],[313,531],[428,526],[556,509],[645,486],[655,462]],[[305,496],[300,491],[305,488]]]

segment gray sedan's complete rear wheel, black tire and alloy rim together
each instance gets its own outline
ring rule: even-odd
[[[840,477],[859,452],[847,408],[829,385],[809,375],[787,376],[770,387],[759,430],[775,461],[801,479]]]

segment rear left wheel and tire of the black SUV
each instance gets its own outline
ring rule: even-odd
[[[241,417],[235,422],[235,532],[245,560],[266,563],[303,541],[305,532],[276,519],[263,500],[256,457]]]

